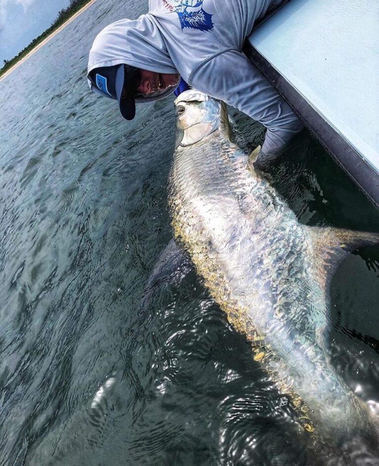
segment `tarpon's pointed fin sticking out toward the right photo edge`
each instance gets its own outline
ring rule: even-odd
[[[339,228],[309,228],[312,237],[317,279],[326,288],[342,260],[362,246],[379,244],[379,233],[355,232]]]

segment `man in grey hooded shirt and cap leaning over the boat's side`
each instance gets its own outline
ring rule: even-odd
[[[122,116],[135,102],[192,87],[239,109],[267,128],[260,157],[282,149],[303,124],[242,53],[255,21],[283,0],[150,0],[149,13],[122,19],[96,37],[90,88],[118,100]]]

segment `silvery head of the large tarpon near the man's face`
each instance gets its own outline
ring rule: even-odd
[[[176,148],[192,146],[221,129],[226,108],[222,102],[195,89],[189,89],[175,100]]]

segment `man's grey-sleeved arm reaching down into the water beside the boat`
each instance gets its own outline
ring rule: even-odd
[[[280,150],[303,129],[303,123],[275,88],[237,50],[228,50],[202,64],[191,74],[189,83],[261,122],[267,128],[264,154]]]

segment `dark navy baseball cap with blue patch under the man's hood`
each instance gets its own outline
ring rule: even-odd
[[[91,90],[118,102],[121,115],[132,120],[136,115],[135,96],[140,83],[140,70],[121,64],[95,68],[89,74]]]

